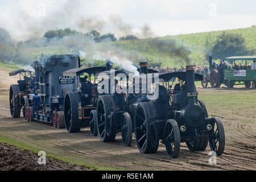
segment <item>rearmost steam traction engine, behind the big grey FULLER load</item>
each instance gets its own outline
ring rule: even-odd
[[[28,104],[28,94],[35,93],[38,91],[38,85],[36,85],[35,73],[18,69],[9,73],[9,76],[15,76],[19,74],[18,84],[11,85],[10,87],[10,111],[11,117],[19,118],[20,109],[22,109],[23,117],[26,118],[26,106]]]

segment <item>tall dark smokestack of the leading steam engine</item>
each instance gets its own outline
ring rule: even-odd
[[[193,65],[186,67],[188,105],[196,104],[196,87],[195,87],[195,67]]]

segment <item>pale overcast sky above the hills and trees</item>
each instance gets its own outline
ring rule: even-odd
[[[65,27],[143,38],[145,24],[151,28],[148,36],[251,27],[255,7],[255,0],[0,0],[0,27],[17,40]]]

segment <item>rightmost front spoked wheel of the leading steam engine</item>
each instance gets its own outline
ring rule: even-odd
[[[220,118],[212,118],[214,120],[214,127],[212,129],[212,136],[209,139],[210,150],[215,151],[217,155],[221,155],[225,148],[225,131]]]

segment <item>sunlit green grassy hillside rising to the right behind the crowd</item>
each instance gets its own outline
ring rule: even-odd
[[[229,33],[240,33],[245,38],[246,46],[256,47],[256,27],[250,28],[240,28],[234,30],[225,30]],[[213,31],[211,32],[214,36],[222,34],[223,31]],[[175,39],[177,43],[187,46],[191,50],[191,59],[193,62],[203,65],[207,64],[204,56],[204,46],[207,32],[195,33],[195,34],[183,34],[175,36],[164,36],[160,39]],[[150,39],[139,39],[139,40],[123,40],[119,42],[114,42],[115,46],[122,46],[127,51],[136,50],[141,53],[141,55],[146,56],[151,62],[162,61],[163,65],[179,66],[180,60],[171,59],[167,55],[159,53],[158,49],[152,49],[148,42]],[[231,56],[231,55],[230,55]]]

